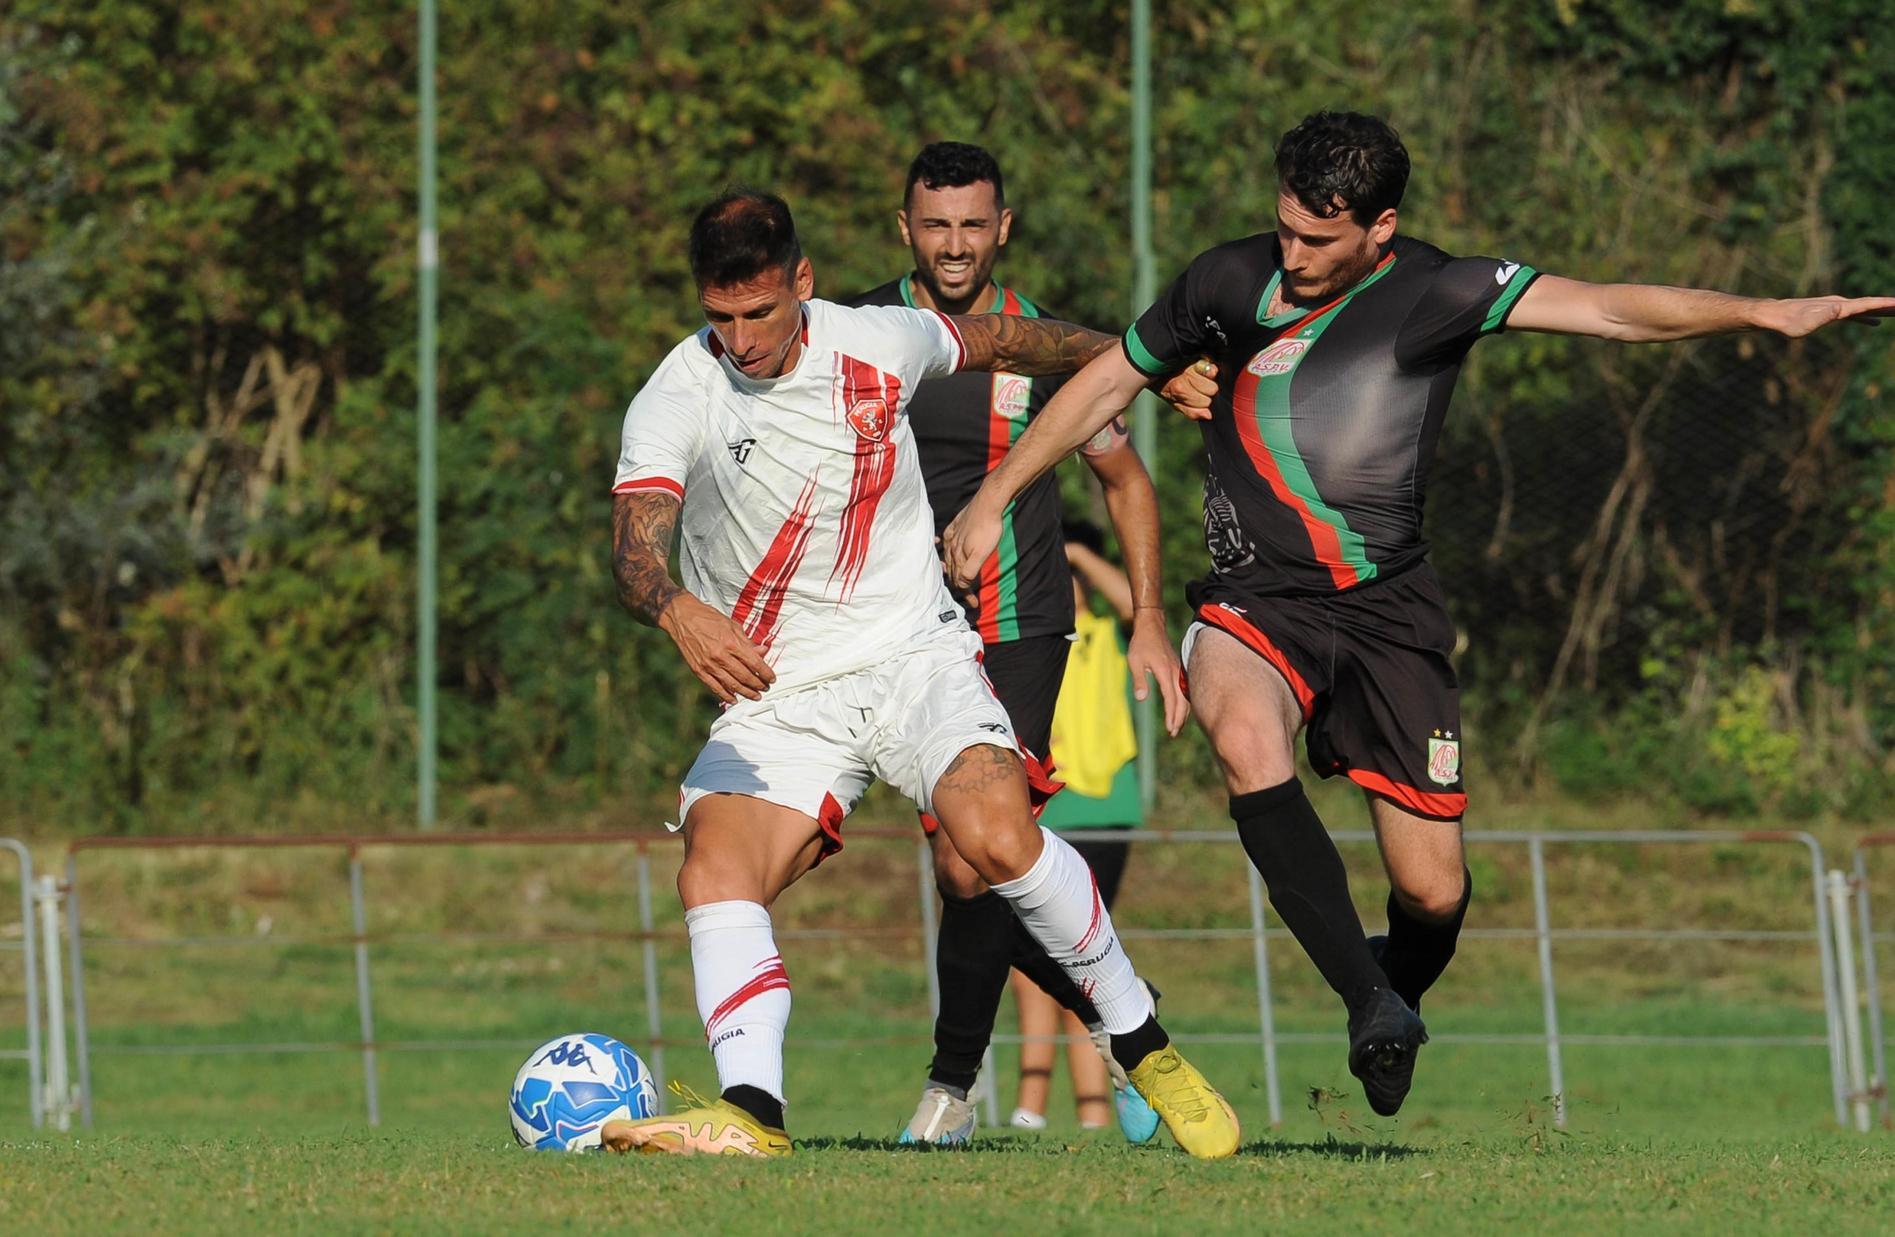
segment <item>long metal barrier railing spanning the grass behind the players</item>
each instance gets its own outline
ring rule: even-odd
[[[1090,830],[1090,837],[1097,839],[1126,839],[1126,841],[1145,841],[1145,843],[1236,843],[1236,834],[1232,832],[1156,832],[1156,830]],[[911,837],[910,832],[902,830],[855,830],[851,837]],[[1338,843],[1372,843],[1374,834],[1368,830],[1336,832]],[[1463,936],[1469,940],[1533,940],[1539,957],[1539,981],[1541,981],[1541,1010],[1543,1027],[1539,1032],[1518,1032],[1518,1034],[1438,1034],[1435,1042],[1440,1044],[1544,1044],[1546,1048],[1546,1070],[1550,1095],[1554,1097],[1554,1120],[1558,1125],[1565,1125],[1565,1068],[1561,1049],[1565,1046],[1649,1046],[1649,1044],[1668,1044],[1668,1046],[1726,1046],[1726,1048],[1817,1048],[1823,1046],[1829,1051],[1831,1065],[1831,1093],[1834,1103],[1834,1116],[1838,1123],[1846,1123],[1846,1099],[1848,1085],[1844,1080],[1844,1040],[1840,1031],[1842,1008],[1838,996],[1838,977],[1836,962],[1831,940],[1831,917],[1825,902],[1823,888],[1823,851],[1815,837],[1802,832],[1738,832],[1738,830],[1702,830],[1702,832],[1656,832],[1656,830],[1601,830],[1601,832],[1471,832],[1465,835],[1469,845],[1520,845],[1527,849],[1527,862],[1533,873],[1533,921],[1531,930],[1520,928],[1489,928],[1467,930]],[[656,943],[659,940],[682,940],[678,930],[658,932],[652,923],[652,887],[650,887],[650,847],[677,845],[677,839],[665,834],[481,834],[481,835],[443,835],[443,834],[419,834],[407,837],[252,837],[252,839],[224,839],[224,837],[171,837],[171,839],[81,839],[76,841],[66,858],[66,887],[68,887],[68,915],[70,915],[70,949],[72,949],[72,1002],[74,1002],[74,1032],[78,1044],[78,1067],[80,1067],[80,1097],[81,1097],[81,1116],[87,1125],[93,1120],[93,1091],[91,1091],[91,1034],[85,1013],[85,970],[81,955],[81,932],[80,932],[80,902],[78,902],[78,856],[81,851],[157,851],[157,849],[184,849],[184,847],[210,847],[210,849],[284,849],[284,847],[313,847],[313,849],[341,849],[349,854],[349,911],[352,936],[335,938],[337,943],[347,940],[354,947],[354,976],[356,976],[356,1004],[360,1015],[360,1042],[356,1044],[226,1044],[226,1046],[140,1046],[140,1048],[117,1048],[110,1051],[174,1051],[174,1053],[210,1053],[210,1051],[354,1051],[362,1055],[364,1068],[364,1089],[368,1104],[370,1123],[379,1123],[379,1097],[375,1085],[375,1053],[377,1051],[398,1051],[398,1049],[443,1049],[443,1048],[498,1048],[514,1046],[514,1040],[453,1040],[453,1042],[377,1042],[375,1038],[375,1017],[373,1017],[373,991],[370,977],[370,947],[373,943],[385,943],[390,938],[377,938],[366,930],[366,892],[362,881],[362,851],[379,847],[508,847],[508,845],[631,845],[637,852],[637,892],[639,892],[639,930],[637,932],[612,932],[612,934],[587,934],[589,940],[618,940],[618,941],[637,941],[642,947],[642,970],[644,970],[644,1004],[646,1004],[646,1031],[650,1065],[654,1074],[663,1080],[667,1046],[677,1046],[665,1040],[661,1027],[661,993],[658,981],[656,964]],[[1709,930],[1709,928],[1554,928],[1552,913],[1548,905],[1546,892],[1546,847],[1582,847],[1582,845],[1795,845],[1802,847],[1810,854],[1812,871],[1812,909],[1814,924],[1810,930]],[[925,847],[917,852],[917,902],[919,902],[919,928],[925,970],[929,972],[929,996],[930,1010],[938,1010],[938,989],[932,974],[932,938],[934,938],[934,881],[932,864]],[[1340,1036],[1336,1034],[1285,1034],[1275,1031],[1273,1000],[1270,993],[1270,959],[1268,945],[1272,936],[1283,934],[1281,928],[1266,926],[1264,913],[1264,887],[1262,879],[1256,875],[1254,868],[1245,862],[1245,871],[1249,873],[1249,926],[1247,928],[1215,928],[1215,930],[1164,930],[1164,932],[1141,932],[1124,930],[1122,936],[1128,940],[1139,940],[1141,936],[1164,936],[1169,940],[1241,940],[1249,936],[1253,941],[1253,966],[1256,972],[1258,989],[1258,1029],[1254,1034],[1188,1034],[1179,1032],[1175,1038],[1181,1042],[1222,1042],[1222,1044],[1256,1044],[1262,1053],[1262,1068],[1266,1078],[1266,1093],[1270,1104],[1272,1125],[1283,1120],[1283,1099],[1277,1076],[1277,1046],[1279,1044],[1298,1044],[1298,1042],[1330,1042]],[[838,936],[826,930],[779,930],[781,940],[824,940]],[[847,934],[853,940],[864,936],[906,936],[911,938],[911,928],[902,930],[881,930],[881,932],[857,932]],[[1577,940],[1692,940],[1692,941],[1808,941],[1814,936],[1817,947],[1817,966],[1821,974],[1823,987],[1823,1015],[1825,1015],[1825,1036],[1647,1036],[1647,1034],[1569,1034],[1560,1029],[1560,1010],[1558,1010],[1558,985],[1554,977],[1554,953],[1556,941],[1577,941]],[[428,940],[443,940],[442,936],[430,936]],[[529,936],[510,936],[508,940],[540,940]],[[275,943],[275,941],[273,941]],[[1018,1042],[1020,1036],[997,1036],[999,1042]],[[813,1040],[800,1040],[803,1044],[815,1044]],[[849,1040],[851,1044],[866,1044],[870,1040]],[[915,1036],[885,1036],[872,1040],[883,1042],[917,1042]],[[531,1048],[531,1042],[519,1040],[517,1046]],[[991,1076],[991,1072],[989,1072]]]

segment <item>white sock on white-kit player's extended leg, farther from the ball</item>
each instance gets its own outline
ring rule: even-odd
[[[1137,1031],[1152,1015],[1152,996],[1118,943],[1092,868],[1057,834],[1040,828],[1040,858],[1027,875],[1002,881],[993,892],[1012,904],[1033,940],[1092,998],[1109,1032]]]

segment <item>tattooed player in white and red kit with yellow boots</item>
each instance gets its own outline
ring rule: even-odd
[[[625,413],[612,487],[620,601],[661,627],[724,710],[684,775],[678,894],[722,1095],[610,1121],[612,1150],[786,1156],[790,979],[769,905],[841,849],[879,777],[1099,1008],[1112,1053],[1192,1156],[1230,1156],[1230,1104],[1171,1046],[1084,860],[1035,824],[1044,771],[980,671],[942,582],[904,413],[955,369],[1071,373],[1116,339],[1012,314],[948,318],[811,299],[783,199],[733,191],[692,225],[707,330]],[[682,523],[684,585],[671,580]],[[1162,684],[1179,699],[1177,684]]]

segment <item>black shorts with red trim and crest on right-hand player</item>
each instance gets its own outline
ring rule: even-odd
[[[1453,621],[1427,563],[1330,597],[1251,597],[1217,578],[1198,621],[1268,661],[1308,724],[1309,765],[1431,820],[1459,820],[1461,690]]]

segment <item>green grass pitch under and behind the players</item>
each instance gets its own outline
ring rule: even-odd
[[[1190,1048],[1245,1123],[1245,1150],[1194,1163],[1073,1127],[1063,1072],[1044,1137],[984,1133],[965,1152],[889,1135],[927,1061],[910,841],[851,841],[781,907],[790,940],[788,1163],[534,1156],[512,1146],[504,1093],[527,1044],[599,1029],[648,1046],[641,949],[587,934],[635,924],[623,852],[370,852],[377,1038],[504,1040],[383,1051],[383,1125],[362,1120],[354,1053],[153,1055],[161,1046],[351,1042],[343,868],[322,854],[85,858],[97,1129],[36,1135],[19,1063],[0,1061],[0,1231],[1887,1231],[1895,1142],[1832,1127],[1821,1048],[1569,1046],[1569,1125],[1550,1127],[1537,1044],[1457,1044],[1541,1025],[1529,941],[1469,940],[1438,995],[1416,1091],[1368,1114],[1342,1065],[1334,998],[1272,940],[1285,1120],[1266,1120],[1254,1046]],[[1220,847],[1146,847],[1128,928],[1247,923],[1241,864]],[[1374,860],[1351,851],[1380,923]],[[1798,928],[1808,875],[1770,851],[1599,849],[1556,858],[1567,926]],[[1488,928],[1531,924],[1512,851],[1476,852]],[[659,869],[659,924],[677,905]],[[0,896],[9,894],[0,887]],[[438,940],[443,930],[493,934]],[[879,932],[879,934],[877,934]],[[542,934],[527,943],[502,934]],[[241,938],[159,947],[176,936]],[[1131,941],[1181,1032],[1254,1029],[1247,940]],[[711,1087],[688,955],[659,947],[673,1074]],[[1821,1034],[1814,949],[1571,941],[1561,1025],[1594,1034]],[[0,953],[0,1046],[19,1044],[19,959]],[[1002,1027],[1010,1012],[1002,1012]],[[841,1040],[853,1040],[843,1044]],[[512,1044],[519,1044],[517,1048]],[[999,1051],[1010,1106],[1014,1059]]]

